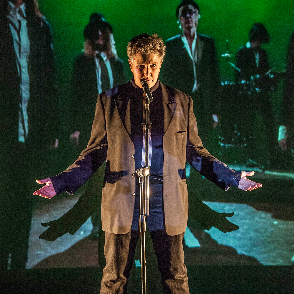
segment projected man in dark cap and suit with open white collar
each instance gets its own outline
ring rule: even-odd
[[[220,77],[213,39],[197,33],[199,13],[193,0],[183,0],[177,7],[182,34],[166,41],[161,79],[192,97],[199,136],[208,146],[209,130],[218,124]]]

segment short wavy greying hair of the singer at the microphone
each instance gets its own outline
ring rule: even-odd
[[[163,61],[165,55],[166,46],[164,45],[161,37],[157,34],[148,35],[143,33],[135,36],[128,42],[127,54],[128,58],[133,63],[134,57],[138,53],[142,54],[158,54],[160,61]]]

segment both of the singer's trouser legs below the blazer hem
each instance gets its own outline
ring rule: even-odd
[[[184,264],[182,245],[184,232],[170,236],[165,230],[159,230],[150,232],[150,235],[158,261],[158,269],[161,273],[164,293],[188,294],[187,268]],[[135,230],[121,235],[105,233],[106,266],[101,281],[101,294],[127,293],[128,278],[139,238],[140,232]]]

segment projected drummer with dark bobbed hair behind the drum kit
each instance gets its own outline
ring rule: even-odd
[[[269,144],[269,162],[266,164],[266,167],[275,163],[277,155],[276,147],[278,146],[276,136],[274,136],[276,133],[275,120],[268,93],[267,72],[270,69],[268,55],[266,51],[260,47],[261,44],[268,43],[269,41],[270,36],[264,25],[255,23],[249,31],[249,41],[237,51],[236,66],[240,71],[235,71],[236,82],[239,83],[239,85],[244,83],[252,85],[250,90],[241,93],[238,99],[240,102],[240,109],[238,111],[240,116],[239,131],[245,138],[251,136],[251,140],[256,141],[254,133],[256,133],[255,126],[257,121],[254,115],[257,110],[263,119],[265,135]],[[252,105],[254,106],[253,108]],[[252,142],[248,142],[248,154],[252,155],[256,147],[257,146]],[[256,159],[249,159],[248,165],[250,164],[257,164]],[[259,166],[261,166],[261,164],[259,164]]]

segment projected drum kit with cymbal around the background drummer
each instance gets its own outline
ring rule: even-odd
[[[222,58],[225,59],[227,64],[232,66],[235,71],[240,72],[241,69],[231,62],[235,55],[231,54],[228,50],[228,40],[226,40],[226,45],[227,51],[221,55]],[[238,115],[240,103],[242,103],[242,99],[247,100],[247,98],[257,93],[277,91],[280,79],[285,77],[285,68],[282,71],[275,71],[275,69],[276,67],[273,67],[267,73],[256,74],[251,76],[248,80],[225,80],[221,82],[222,136],[219,136],[219,145],[221,147],[220,155],[232,155],[232,152],[239,153],[235,155],[246,153],[243,151],[247,149],[251,136],[248,133],[245,136],[245,134],[240,132],[240,119],[238,119],[240,118]]]

